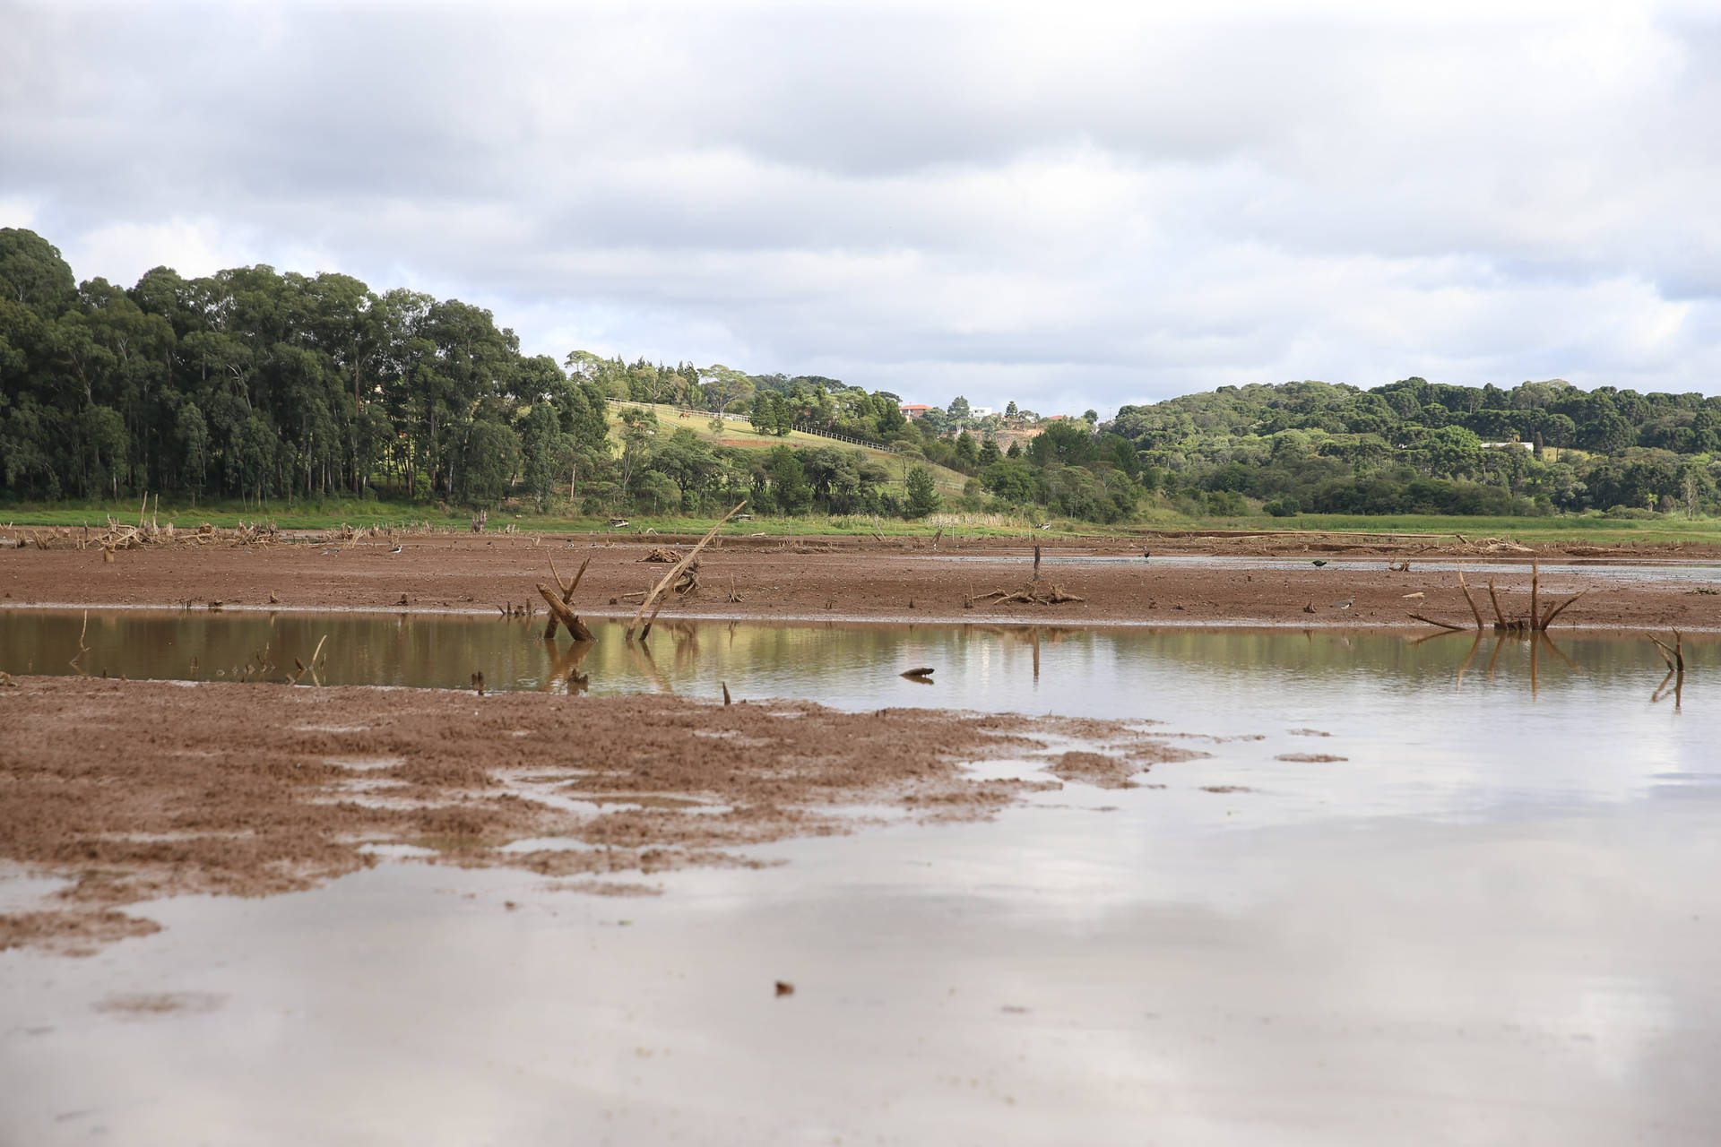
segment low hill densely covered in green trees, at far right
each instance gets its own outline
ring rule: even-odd
[[[1126,406],[1150,485],[1208,512],[1712,512],[1721,397],[1404,378],[1220,387]]]

